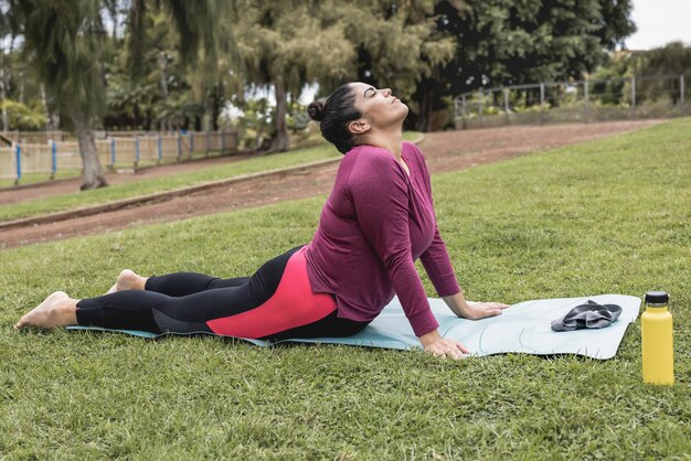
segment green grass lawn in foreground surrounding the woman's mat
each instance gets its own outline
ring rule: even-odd
[[[1,251],[0,458],[688,457],[689,132],[676,120],[433,181],[469,299],[669,291],[674,386],[641,383],[639,322],[606,362],[11,329],[51,291],[95,296],[124,267],[252,274],[310,239],[318,196]]]

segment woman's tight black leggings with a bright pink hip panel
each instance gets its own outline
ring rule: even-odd
[[[311,291],[299,246],[265,262],[252,277],[219,279],[179,272],[150,277],[127,290],[77,303],[79,325],[153,333],[206,332],[280,341],[350,336],[369,322],[337,317],[336,299]]]

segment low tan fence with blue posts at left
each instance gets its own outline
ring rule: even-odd
[[[61,132],[50,132],[61,133]],[[40,139],[18,137],[22,140]],[[188,160],[195,154],[237,151],[237,132],[206,131],[187,133],[146,133],[132,137],[108,137],[95,140],[100,164],[118,168],[142,163],[170,163]],[[45,173],[50,179],[59,171],[82,170],[79,144],[76,140],[49,139],[45,142],[14,142],[0,147],[0,179],[13,179],[19,184],[23,175]]]

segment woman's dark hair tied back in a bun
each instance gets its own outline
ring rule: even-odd
[[[353,148],[354,139],[348,131],[348,124],[362,117],[355,109],[355,94],[349,83],[331,93],[326,103],[316,100],[307,107],[312,120],[320,121],[321,136],[341,153]]]

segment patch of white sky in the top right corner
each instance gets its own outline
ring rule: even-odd
[[[634,0],[638,31],[629,36],[629,50],[650,50],[669,42],[691,45],[691,0]]]

